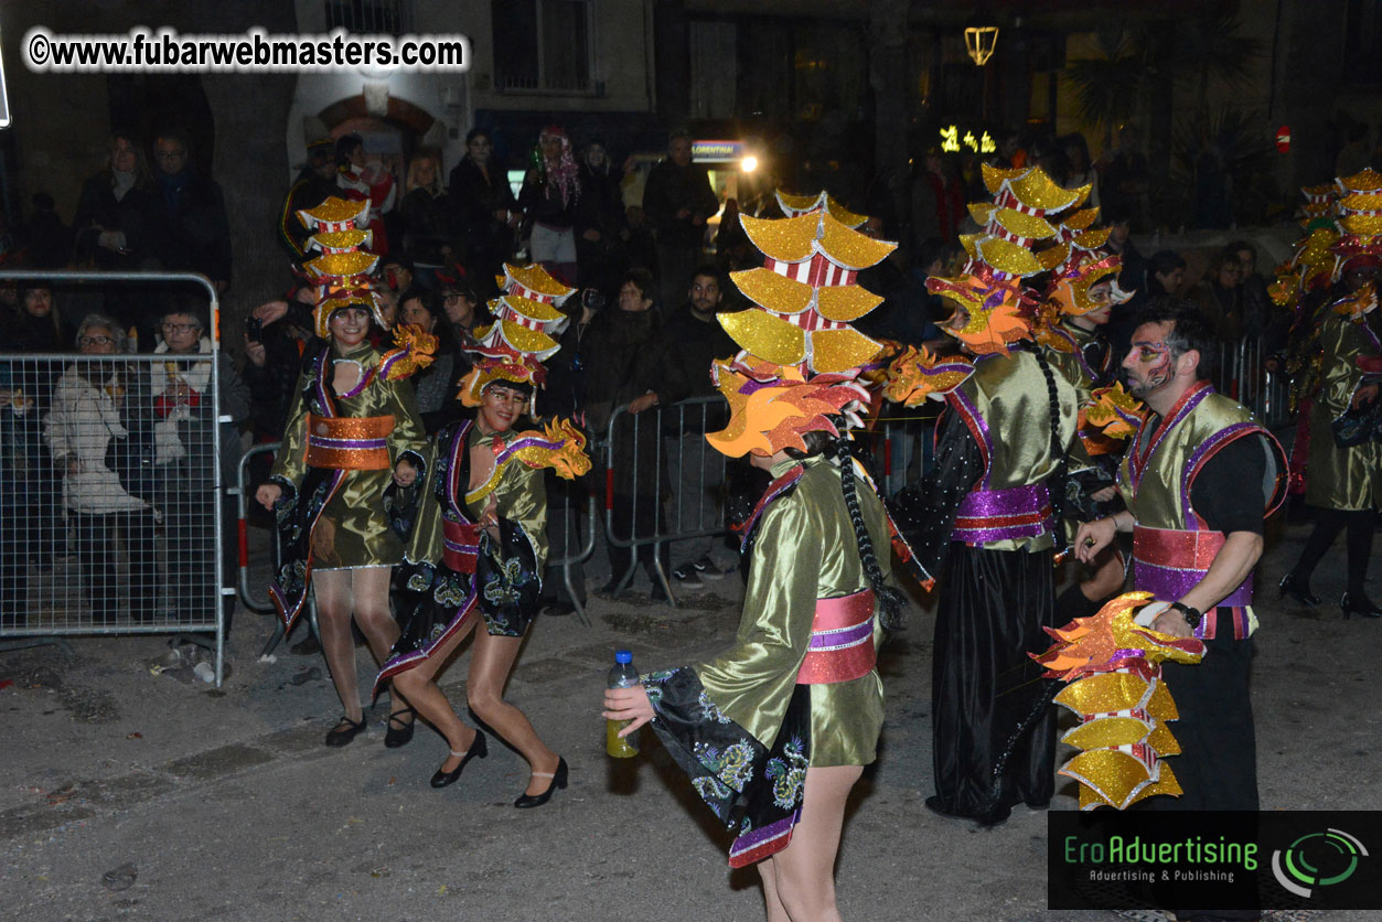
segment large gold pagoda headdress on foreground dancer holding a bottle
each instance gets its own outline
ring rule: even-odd
[[[766,258],[731,275],[749,308],[719,315],[742,351],[712,366],[730,401],[730,424],[706,440],[731,458],[804,448],[803,435],[813,430],[839,435],[832,416],[844,416],[846,427],[862,424],[855,409],[869,397],[858,376],[882,346],[850,322],[882,299],[855,276],[897,245],[851,229],[829,209],[821,194],[813,210],[793,217],[739,217]]]

